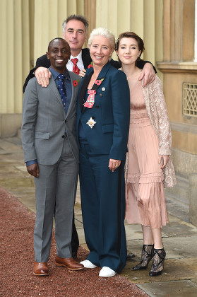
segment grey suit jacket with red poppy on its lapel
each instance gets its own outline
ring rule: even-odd
[[[73,157],[78,162],[76,101],[81,78],[68,72],[72,97],[67,115],[53,77],[47,88],[42,88],[36,78],[32,78],[25,89],[21,127],[25,162],[37,159],[42,165],[54,165],[61,156],[65,128]],[[73,86],[73,81],[77,81],[77,86]]]

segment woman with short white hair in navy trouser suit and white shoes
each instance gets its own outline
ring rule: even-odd
[[[87,268],[114,276],[126,264],[124,163],[129,134],[130,94],[126,75],[109,63],[114,35],[105,28],[88,40],[90,67],[78,95],[80,195]]]

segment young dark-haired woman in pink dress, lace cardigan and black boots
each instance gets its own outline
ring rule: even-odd
[[[138,81],[141,69],[136,67],[136,61],[143,50],[143,40],[135,33],[119,35],[116,51],[129,82],[131,102],[126,220],[141,223],[143,230],[141,262],[133,270],[146,269],[153,258],[149,274],[157,276],[162,274],[166,255],[161,231],[168,222],[164,187],[172,187],[176,179],[170,157],[172,133],[162,83],[158,76],[145,87]]]

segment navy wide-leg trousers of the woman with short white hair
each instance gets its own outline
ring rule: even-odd
[[[80,195],[88,260],[120,272],[126,264],[124,161],[112,173],[109,155],[80,139]]]

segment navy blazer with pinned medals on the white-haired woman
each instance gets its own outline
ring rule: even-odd
[[[130,92],[126,75],[109,62],[103,66],[98,80],[104,80],[96,90],[92,108],[84,107],[84,98],[93,69],[87,70],[80,85],[77,103],[76,135],[81,122],[88,144],[94,154],[109,154],[109,158],[125,160],[129,136]],[[87,122],[96,122],[92,129]],[[79,139],[78,146],[80,148]]]

